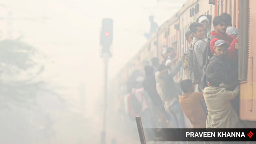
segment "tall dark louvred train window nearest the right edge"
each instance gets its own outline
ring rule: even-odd
[[[247,80],[248,63],[248,30],[249,30],[249,0],[239,1],[239,48],[238,48],[238,80]]]

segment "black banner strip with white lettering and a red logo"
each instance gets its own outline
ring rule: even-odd
[[[256,129],[144,129],[144,131],[147,141],[256,141]]]

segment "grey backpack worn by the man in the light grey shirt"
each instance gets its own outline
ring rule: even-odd
[[[198,41],[198,40],[197,40]],[[198,62],[196,56],[194,57],[194,46],[196,42],[193,44],[191,48],[189,48],[182,57],[182,68],[187,78],[191,78],[191,75],[194,76],[194,83],[198,84],[200,79],[200,72],[198,69]]]

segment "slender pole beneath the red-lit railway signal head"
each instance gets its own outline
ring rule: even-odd
[[[101,144],[106,143],[106,107],[107,107],[107,96],[108,96],[108,55],[104,56],[105,63],[105,80],[104,80],[104,106],[103,106],[103,130],[101,132]]]

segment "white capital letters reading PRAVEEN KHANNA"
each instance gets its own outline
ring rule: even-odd
[[[186,132],[186,137],[216,137],[215,132]],[[244,132],[218,132],[217,137],[245,137]]]

